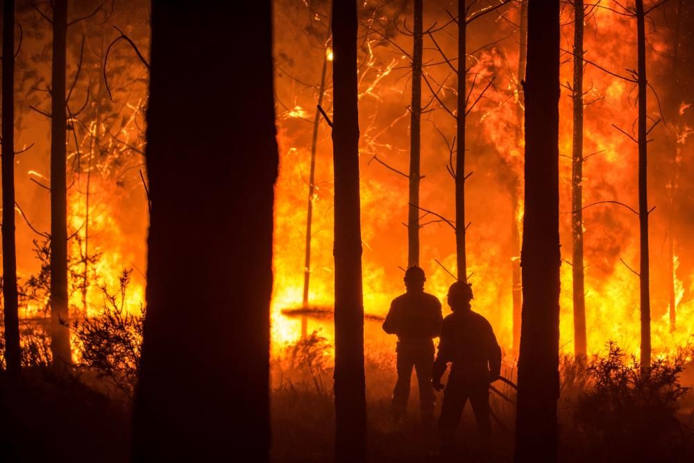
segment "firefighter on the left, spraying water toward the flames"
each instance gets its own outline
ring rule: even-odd
[[[441,303],[436,296],[424,292],[426,278],[419,267],[405,271],[402,296],[393,299],[383,330],[398,335],[398,382],[393,389],[393,419],[400,421],[407,410],[412,367],[417,373],[421,417],[425,424],[434,419],[434,389],[431,372],[434,364],[434,337],[441,332]]]

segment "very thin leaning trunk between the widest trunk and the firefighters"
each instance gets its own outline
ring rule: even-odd
[[[332,3],[330,3],[330,15],[328,16],[328,24],[332,20]],[[330,31],[328,31],[330,35]],[[328,39],[330,37],[328,36]],[[324,50],[323,53],[323,71],[321,71],[321,86],[318,89],[318,103],[321,106],[323,103],[323,94],[325,93],[325,78],[328,75],[328,53]],[[308,180],[308,205],[306,214],[306,253],[304,258],[304,289],[302,308],[308,308],[308,289],[311,283],[311,228],[313,224],[313,195],[316,192],[316,150],[318,149],[318,129],[321,124],[321,112],[316,108],[316,114],[313,118],[313,138],[311,140],[311,170]],[[305,315],[301,316],[301,338],[305,338],[308,334],[308,318]]]

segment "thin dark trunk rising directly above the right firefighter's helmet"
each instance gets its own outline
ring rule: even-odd
[[[458,0],[458,108],[455,115],[457,141],[455,151],[455,253],[457,258],[458,280],[468,280],[467,259],[465,255],[465,111],[466,111],[466,34],[465,0]]]

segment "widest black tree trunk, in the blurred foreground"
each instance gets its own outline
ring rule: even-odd
[[[244,13],[252,20],[230,27],[223,2],[152,3],[135,461],[269,458],[271,1],[248,2]]]

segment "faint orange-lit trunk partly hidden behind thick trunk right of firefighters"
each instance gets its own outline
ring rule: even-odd
[[[520,28],[518,30],[518,105],[516,116],[518,117],[518,130],[516,131],[516,140],[521,140],[523,137],[523,79],[525,79],[525,61],[527,58],[527,1],[521,3],[521,18]],[[512,287],[511,296],[513,298],[513,353],[514,357],[518,356],[518,348],[521,345],[521,308],[523,307],[523,285],[521,283],[521,259],[516,253],[521,252],[521,230],[518,227],[518,215],[520,214],[519,197],[521,194],[521,179],[514,174],[514,181],[511,182],[511,249],[514,252],[514,258],[511,259],[512,266]]]

